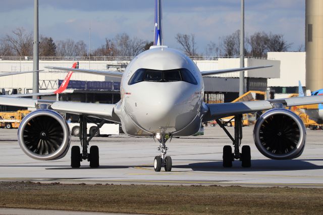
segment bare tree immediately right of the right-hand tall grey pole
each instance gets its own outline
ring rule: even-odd
[[[250,55],[252,57],[265,57],[268,35],[265,32],[255,32],[247,38],[247,42],[250,45]]]

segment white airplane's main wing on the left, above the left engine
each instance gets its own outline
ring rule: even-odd
[[[114,113],[116,104],[99,104],[99,103],[84,103],[72,101],[52,101],[31,98],[16,98],[8,96],[0,96],[1,105],[21,106],[25,108],[44,108],[42,105],[47,106],[48,109],[76,114],[86,115],[91,117],[99,117],[102,119],[120,122],[119,117]]]

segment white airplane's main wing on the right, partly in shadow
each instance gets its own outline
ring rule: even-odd
[[[261,101],[243,101],[234,103],[205,104],[207,112],[203,121],[220,119],[223,117],[234,116],[238,114],[247,114],[257,111],[265,111],[274,108],[275,103],[282,103],[285,106],[298,106],[306,104],[323,103],[323,95],[292,97]]]

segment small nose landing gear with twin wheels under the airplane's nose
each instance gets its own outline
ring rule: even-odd
[[[170,138],[170,135],[156,134],[154,138],[159,141],[159,147],[157,150],[160,151],[160,155],[155,156],[153,169],[155,172],[160,172],[161,167],[164,167],[166,172],[172,171],[172,158],[171,156],[165,156],[168,150],[168,147],[166,147],[166,141]]]

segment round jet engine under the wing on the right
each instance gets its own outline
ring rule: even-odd
[[[293,159],[304,150],[306,128],[293,112],[272,109],[257,120],[253,138],[264,156],[272,159]]]

